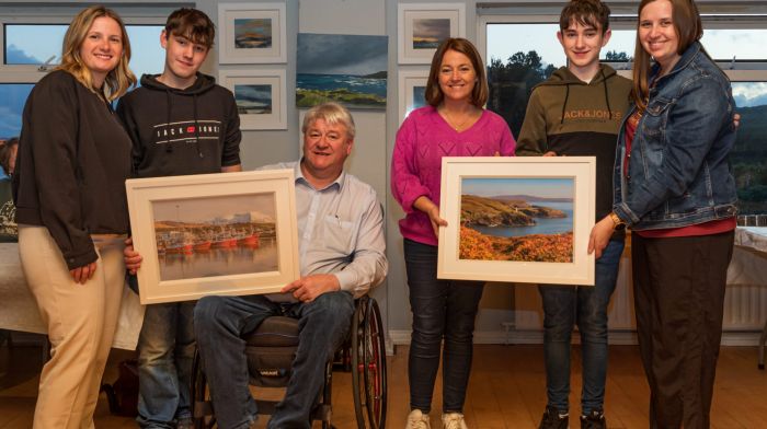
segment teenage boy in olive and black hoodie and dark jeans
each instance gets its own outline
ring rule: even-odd
[[[596,219],[613,206],[616,142],[631,91],[630,80],[599,62],[599,51],[610,39],[609,13],[598,0],[574,0],[564,7],[557,38],[568,67],[533,91],[516,150],[517,155],[596,156]],[[594,287],[538,288],[543,301],[548,396],[540,428],[568,428],[570,337],[575,323],[583,353],[581,427],[606,427],[607,305],[622,252],[623,231],[617,231],[596,260]]]

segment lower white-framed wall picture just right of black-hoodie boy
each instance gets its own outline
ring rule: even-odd
[[[285,70],[220,70],[218,83],[234,93],[240,129],[287,129]]]

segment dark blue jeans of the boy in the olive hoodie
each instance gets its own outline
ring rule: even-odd
[[[570,338],[577,324],[583,352],[581,411],[602,410],[607,379],[607,305],[618,278],[623,240],[610,240],[596,259],[594,287],[540,286],[548,405],[569,410]]]

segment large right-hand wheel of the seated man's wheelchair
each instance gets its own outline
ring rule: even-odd
[[[386,427],[386,340],[376,300],[359,299],[352,325],[352,387],[359,429]]]

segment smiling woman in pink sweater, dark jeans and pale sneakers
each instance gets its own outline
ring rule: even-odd
[[[449,38],[434,55],[426,84],[428,106],[413,111],[397,132],[391,189],[400,220],[413,312],[407,428],[430,428],[434,381],[443,369],[443,425],[466,428],[463,401],[471,369],[474,318],[483,282],[437,279],[437,231],[443,156],[512,156],[515,141],[504,119],[482,108],[488,81],[477,48]],[[440,350],[445,341],[444,351]]]

